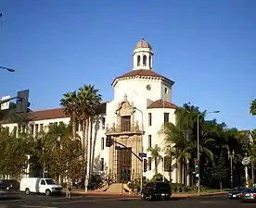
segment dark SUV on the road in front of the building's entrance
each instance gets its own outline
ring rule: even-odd
[[[169,183],[166,182],[152,182],[147,185],[141,191],[141,199],[146,200],[170,200],[172,196],[172,190]]]

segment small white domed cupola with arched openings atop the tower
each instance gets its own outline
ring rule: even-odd
[[[147,41],[140,40],[138,43],[136,43],[136,46],[134,48],[134,68],[133,70],[138,69],[147,69],[152,70],[152,47]]]

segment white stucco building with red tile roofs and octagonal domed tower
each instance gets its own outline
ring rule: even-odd
[[[107,171],[116,181],[122,180],[123,172],[129,179],[140,176],[141,163],[131,151],[136,154],[141,152],[142,133],[144,153],[147,153],[148,147],[158,144],[162,150],[160,154],[164,156],[166,145],[160,129],[164,122],[175,123],[176,105],[172,103],[174,82],[153,71],[153,55],[151,45],[144,39],[135,45],[133,68],[112,81],[114,99],[102,104],[98,111],[98,119],[93,125],[91,136],[95,141],[95,147],[92,145],[90,149],[95,148],[95,158],[99,159],[102,166],[100,171]],[[62,108],[35,111],[28,116],[31,122],[27,130],[34,134],[52,123],[70,122],[70,117],[64,115]],[[9,128],[10,131],[18,128],[18,124],[2,126]],[[21,128],[23,131],[26,130],[26,127]],[[80,125],[77,131],[82,133]],[[110,148],[106,147],[107,136],[127,148],[123,149],[117,143]],[[95,158],[92,159],[94,163]],[[147,153],[148,168],[144,173],[147,178],[155,174],[154,162],[151,163],[150,158],[150,153]],[[161,174],[162,167],[160,163],[158,172]],[[169,174],[165,172],[165,177],[169,178]],[[172,178],[173,182],[181,179],[175,168],[172,171]]]

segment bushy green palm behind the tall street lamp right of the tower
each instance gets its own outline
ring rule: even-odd
[[[193,158],[197,156],[198,114],[200,114],[198,107],[184,104],[183,108],[179,108],[175,111],[176,124],[165,124],[165,141],[167,146],[173,146],[176,161],[182,168],[180,173],[184,183],[186,183],[186,164],[189,161],[192,162]],[[209,137],[208,128],[203,124],[204,114],[199,117],[199,153],[206,155],[207,159],[213,163],[213,153],[211,153],[211,150],[208,148],[208,144],[211,144],[214,140]]]

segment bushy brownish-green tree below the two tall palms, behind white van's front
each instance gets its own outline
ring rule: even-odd
[[[83,170],[83,148],[80,137],[73,138],[70,126],[53,124],[44,141],[42,162],[53,177],[78,179]]]

